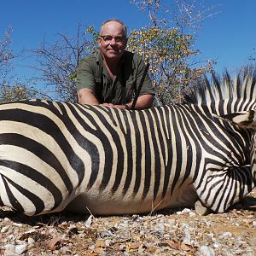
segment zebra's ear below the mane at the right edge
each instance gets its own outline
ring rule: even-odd
[[[223,119],[245,129],[256,129],[256,111],[242,111],[229,113],[222,116],[214,115],[218,119]]]

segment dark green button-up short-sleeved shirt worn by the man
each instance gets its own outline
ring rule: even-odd
[[[112,81],[107,68],[103,65],[99,50],[86,56],[79,62],[77,90],[83,88],[92,90],[100,103],[124,104],[131,102],[143,77],[145,63],[141,56],[125,50],[120,65],[120,72]],[[154,88],[148,74],[139,95],[144,94],[154,94]]]

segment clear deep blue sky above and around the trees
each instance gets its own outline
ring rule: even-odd
[[[201,50],[198,60],[217,61],[215,70],[219,73],[247,64],[256,47],[256,1],[207,0],[205,4],[218,4],[220,13],[203,22],[195,44]],[[109,18],[123,20],[130,29],[148,25],[148,16],[129,0],[8,0],[1,3],[0,38],[12,26],[12,48],[19,54],[22,49],[37,48],[44,38],[54,43],[58,32],[73,35],[79,23],[97,28]],[[24,63],[15,62],[20,79],[32,73],[22,67]]]

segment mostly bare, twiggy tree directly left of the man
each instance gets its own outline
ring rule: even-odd
[[[93,26],[79,24],[74,36],[58,34],[55,44],[43,43],[29,49],[38,65],[33,80],[44,82],[50,95],[61,101],[77,102],[76,67],[84,55],[96,48],[97,33]]]

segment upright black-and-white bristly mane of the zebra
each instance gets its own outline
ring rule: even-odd
[[[232,111],[246,110],[234,109],[234,105],[248,101],[256,104],[256,67],[242,68],[234,79],[231,79],[228,71],[225,71],[222,77],[212,73],[211,81],[205,76],[197,81],[191,93],[185,95],[184,99],[187,104],[218,108],[218,105],[224,105],[226,102],[226,108]]]

